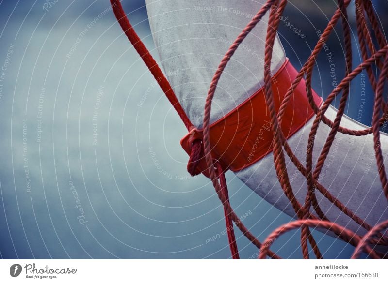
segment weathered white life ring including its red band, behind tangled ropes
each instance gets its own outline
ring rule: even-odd
[[[206,94],[220,60],[249,19],[259,9],[259,4],[250,0],[233,1],[232,4],[229,0],[201,3],[204,5],[195,6],[193,1],[189,0],[146,0],[150,27],[164,73],[184,111],[195,126],[193,131],[182,139],[182,146],[187,151],[190,150],[187,146],[187,143],[192,140],[190,138],[201,135]],[[210,115],[210,129],[218,127],[218,130],[214,130],[211,136],[212,147],[214,151],[218,150],[218,155],[230,155],[222,158],[224,165],[232,168],[236,176],[249,188],[276,208],[291,217],[296,217],[289,199],[279,186],[270,146],[271,139],[263,141],[271,134],[271,131],[267,130],[270,125],[266,124],[264,113],[260,113],[261,118],[256,120],[257,113],[254,111],[258,109],[256,106],[260,102],[255,102],[258,104],[252,102],[253,99],[259,97],[260,90],[264,86],[264,43],[268,17],[267,13],[244,39],[218,82],[212,99]],[[281,95],[284,95],[283,89],[287,89],[287,86],[291,84],[295,76],[294,70],[286,58],[280,40],[276,37],[271,74],[273,75],[273,88],[281,89],[278,93],[279,100],[281,100]],[[302,82],[299,89],[295,90],[289,113],[283,119],[289,122],[289,127],[286,127],[286,132],[289,130],[287,142],[300,160],[304,160],[306,156],[309,132],[315,118],[315,114],[311,115],[306,108],[308,106],[306,97],[306,90]],[[317,106],[320,106],[320,98],[316,94],[313,94],[313,97]],[[244,104],[248,105],[247,109],[241,110]],[[239,110],[241,112],[238,112]],[[301,114],[300,111],[302,115],[298,116]],[[233,147],[238,145],[230,140],[233,140],[236,135],[239,138],[241,136],[246,138],[246,136],[236,134],[237,131],[228,131],[225,125],[226,117],[236,115],[236,113],[240,120],[253,121],[255,119],[254,122],[257,124],[256,128],[249,129],[255,132],[251,133],[252,137],[259,137],[259,140],[256,142],[256,139],[246,139],[250,142],[242,147],[245,150],[243,154],[241,150],[230,149],[230,145]],[[244,116],[245,114],[249,114],[248,118]],[[325,116],[331,120],[335,119],[336,114],[337,109],[332,106],[325,112]],[[301,120],[301,117],[304,119]],[[217,126],[223,121],[224,124]],[[368,128],[346,116],[343,116],[341,126],[354,130]],[[330,129],[329,126],[323,124],[314,137],[314,162],[323,149]],[[229,143],[227,139],[224,139],[223,134],[229,136]],[[388,135],[380,133],[380,141],[384,153],[384,164],[387,168]],[[372,135],[355,137],[337,133],[321,170],[319,182],[361,219],[374,226],[388,219],[388,205],[378,178],[375,151],[370,146],[372,144]],[[220,149],[220,145],[230,149],[229,152],[226,149]],[[246,150],[249,147],[252,148],[253,153]],[[258,151],[261,153],[256,154]],[[242,155],[243,159],[249,162],[244,164],[240,161],[236,165],[236,158],[239,159]],[[303,203],[307,194],[306,178],[295,168],[287,155],[286,164],[294,195],[300,203]],[[322,193],[316,192],[316,197],[328,219],[359,235],[367,233],[365,227],[350,219]]]

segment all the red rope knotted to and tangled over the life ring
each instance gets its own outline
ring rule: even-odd
[[[271,233],[268,238],[261,243],[256,237],[254,237],[249,230],[243,225],[239,217],[233,211],[229,203],[228,191],[226,186],[225,171],[228,169],[228,164],[222,164],[222,161],[218,161],[214,157],[214,152],[212,152],[210,147],[210,109],[212,98],[214,96],[215,90],[217,88],[218,81],[228,63],[230,58],[233,56],[234,52],[237,50],[238,46],[242,43],[244,38],[250,33],[250,31],[257,25],[261,20],[263,15],[267,13],[271,6],[276,5],[276,15],[282,15],[284,8],[287,5],[287,0],[267,0],[267,2],[261,7],[258,13],[252,18],[252,20],[247,24],[247,26],[242,30],[233,44],[229,47],[226,52],[223,60],[219,64],[217,71],[215,72],[213,79],[210,83],[210,89],[206,98],[206,104],[204,109],[204,119],[203,119],[203,131],[198,138],[197,135],[193,134],[189,138],[189,147],[190,147],[190,158],[187,165],[189,173],[192,175],[198,174],[199,172],[205,173],[208,176],[213,186],[220,198],[225,212],[225,220],[227,227],[227,235],[229,240],[229,247],[232,253],[232,258],[238,259],[238,248],[236,244],[236,239],[233,231],[233,223],[242,231],[242,234],[247,237],[259,250],[259,258],[265,258],[267,255],[271,258],[278,259],[280,258],[274,252],[269,250],[273,238],[277,238],[280,235],[290,231],[292,229],[301,228],[301,247],[303,257],[305,259],[309,258],[307,240],[309,241],[313,252],[317,258],[323,258],[319,248],[312,237],[309,228],[321,227],[327,230],[334,232],[342,240],[352,244],[356,247],[355,252],[352,255],[352,258],[357,258],[361,252],[365,251],[372,258],[385,258],[386,255],[378,253],[370,245],[388,245],[387,237],[383,236],[381,231],[384,231],[388,227],[388,220],[377,224],[372,227],[370,224],[366,223],[364,220],[359,218],[354,212],[348,209],[344,204],[342,204],[335,196],[330,194],[330,192],[318,182],[321,169],[323,167],[324,161],[329,153],[329,149],[334,141],[334,138],[338,132],[348,135],[362,136],[367,134],[373,134],[374,149],[376,155],[376,163],[379,168],[379,178],[382,184],[383,192],[388,200],[388,181],[387,174],[384,167],[384,158],[380,147],[380,132],[379,129],[381,125],[388,119],[388,103],[384,101],[383,90],[384,84],[388,76],[388,46],[387,40],[381,30],[377,16],[372,7],[371,0],[356,0],[356,24],[357,24],[357,36],[360,44],[361,54],[363,62],[359,64],[355,69],[352,70],[352,50],[351,50],[351,34],[350,27],[348,22],[348,15],[346,8],[348,7],[351,0],[338,0],[338,8],[329,23],[327,24],[325,30],[323,31],[321,38],[318,40],[315,45],[311,55],[307,59],[306,63],[303,65],[302,69],[296,74],[293,79],[291,86],[287,89],[287,92],[282,97],[280,105],[275,107],[274,102],[274,91],[271,88],[271,58],[272,58],[272,47],[275,42],[275,37],[277,34],[277,29],[279,26],[279,16],[275,16],[274,13],[270,13],[266,44],[265,44],[265,62],[264,66],[269,66],[264,69],[264,82],[265,87],[263,89],[265,95],[265,103],[269,110],[269,118],[271,119],[272,133],[273,133],[273,143],[272,150],[274,155],[275,169],[280,185],[284,191],[284,194],[290,200],[293,209],[299,220],[287,223],[277,228],[273,233]],[[159,68],[156,61],[152,58],[146,46],[142,43],[134,29],[129,23],[129,20],[123,11],[121,3],[119,0],[111,0],[113,12],[119,22],[121,28],[127,35],[130,43],[134,46],[136,51],[139,53],[143,61],[146,63],[148,69],[153,74],[155,79],[158,81],[163,92],[167,96],[170,103],[174,106],[178,112],[179,117],[184,122],[186,128],[189,132],[194,130],[193,124],[190,122],[186,116],[183,108],[178,102],[174,91],[172,90],[169,82],[165,78],[161,69]],[[345,56],[346,56],[346,72],[345,76],[339,85],[329,94],[326,101],[321,106],[317,103],[317,100],[314,97],[314,92],[311,88],[312,80],[312,71],[315,64],[315,58],[321,52],[323,44],[327,41],[329,35],[334,29],[334,26],[341,18],[342,30],[344,34],[344,47],[345,47]],[[368,23],[367,20],[368,19]],[[372,27],[374,38],[376,39],[377,44],[374,43],[372,34],[368,29],[368,25]],[[378,79],[373,73],[372,64],[375,64],[380,69],[380,74]],[[365,130],[352,130],[348,128],[341,127],[340,121],[344,114],[347,98],[349,96],[349,86],[352,79],[354,79],[358,74],[363,70],[366,70],[368,74],[369,81],[372,85],[374,92],[376,93],[374,108],[373,108],[373,119],[372,127]],[[303,80],[303,77],[306,77],[306,81]],[[287,133],[284,133],[282,128],[284,114],[286,113],[287,106],[290,103],[291,97],[294,94],[294,90],[300,85],[300,83],[305,84],[308,104],[311,109],[316,114],[316,117],[311,128],[307,153],[306,153],[306,167],[296,158],[292,152],[290,146],[287,143]],[[329,120],[325,117],[325,112],[328,109],[331,102],[337,98],[341,93],[339,109],[334,121]],[[320,123],[323,122],[331,128],[331,131],[326,139],[326,142],[323,146],[323,149],[319,155],[318,162],[316,167],[312,168],[312,149],[314,146],[314,136],[318,130]],[[290,157],[293,164],[301,172],[302,176],[307,179],[307,195],[305,203],[300,204],[292,191],[291,182],[287,173],[285,155],[284,152]],[[198,170],[198,166],[201,164],[201,159],[205,158],[206,161],[206,170]],[[202,168],[203,169],[203,168]],[[368,233],[361,237],[352,231],[339,226],[336,223],[331,222],[324,215],[322,210],[319,207],[318,201],[316,199],[315,190],[321,192],[333,205],[339,208],[344,214],[346,214],[351,220],[355,221],[360,226],[368,230]],[[310,209],[314,209],[318,217],[315,217],[310,213]]]

